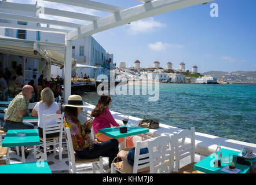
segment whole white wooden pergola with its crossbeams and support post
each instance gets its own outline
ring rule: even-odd
[[[186,8],[202,3],[207,3],[214,0],[133,0],[140,1],[141,4],[131,8],[121,8],[114,5],[108,5],[96,1],[89,0],[45,0],[55,3],[64,3],[66,5],[79,6],[82,8],[100,10],[103,12],[111,13],[109,16],[98,17],[89,14],[68,12],[65,10],[58,10],[52,8],[45,8],[41,6],[28,6],[19,3],[0,2],[0,8],[22,10],[27,12],[37,12],[52,16],[61,16],[68,18],[75,18],[78,20],[86,20],[92,23],[87,25],[68,23],[65,21],[56,21],[45,18],[21,16],[10,13],[0,13],[0,19],[6,20],[19,20],[32,23],[42,23],[49,25],[58,25],[62,27],[72,28],[70,29],[56,29],[45,27],[31,27],[28,25],[17,25],[9,23],[0,23],[2,28],[12,29],[25,29],[30,31],[52,32],[65,34],[65,59],[64,59],[64,101],[67,103],[68,97],[71,95],[71,68],[72,68],[72,46],[71,41],[98,32],[118,27],[120,25],[129,24],[133,21],[141,20],[142,18],[156,16],[158,14],[171,12],[173,10]]]

